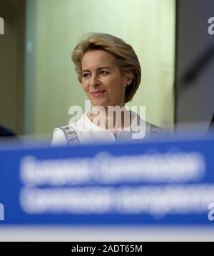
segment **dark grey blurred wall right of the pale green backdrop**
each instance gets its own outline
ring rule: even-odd
[[[193,124],[192,132],[200,126],[202,134],[212,126],[214,113],[213,10],[213,0],[177,1],[175,124]]]

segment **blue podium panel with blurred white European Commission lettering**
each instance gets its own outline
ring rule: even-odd
[[[0,149],[0,225],[211,225],[214,139]]]

